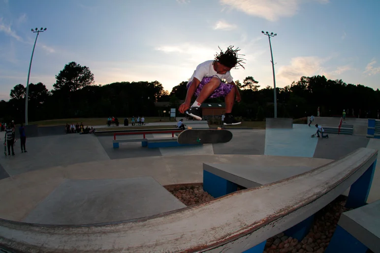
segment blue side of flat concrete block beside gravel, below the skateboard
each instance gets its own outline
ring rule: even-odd
[[[224,178],[203,170],[203,190],[212,197],[221,197],[237,191],[237,185]]]

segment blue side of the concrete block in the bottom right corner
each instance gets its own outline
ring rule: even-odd
[[[331,241],[324,253],[366,253],[368,248],[337,225]]]

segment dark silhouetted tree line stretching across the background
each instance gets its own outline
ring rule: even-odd
[[[246,120],[274,116],[273,87],[259,89],[259,83],[252,76],[235,83],[242,101],[234,105],[234,115]],[[70,62],[56,75],[52,90],[42,83],[29,84],[28,120],[161,116],[163,110],[178,110],[186,97],[186,84],[187,81],[181,82],[171,92],[166,91],[158,81],[96,85],[94,74],[87,66]],[[276,91],[278,117],[316,115],[318,107],[321,116],[341,115],[343,110],[348,110],[348,116],[377,117],[380,108],[379,89],[346,84],[342,80],[328,80],[324,76],[302,77],[284,88],[276,88]],[[26,87],[17,84],[10,91],[9,101],[0,101],[1,121],[25,122],[25,94]],[[168,103],[157,106],[155,102]],[[206,102],[224,102],[224,98],[208,99]]]

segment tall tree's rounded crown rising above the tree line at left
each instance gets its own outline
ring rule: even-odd
[[[53,87],[56,90],[70,92],[91,84],[94,84],[94,74],[90,69],[72,61],[66,64],[56,76],[56,83]]]

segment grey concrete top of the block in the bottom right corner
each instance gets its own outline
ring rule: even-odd
[[[373,252],[380,250],[380,200],[344,212],[338,225]]]

